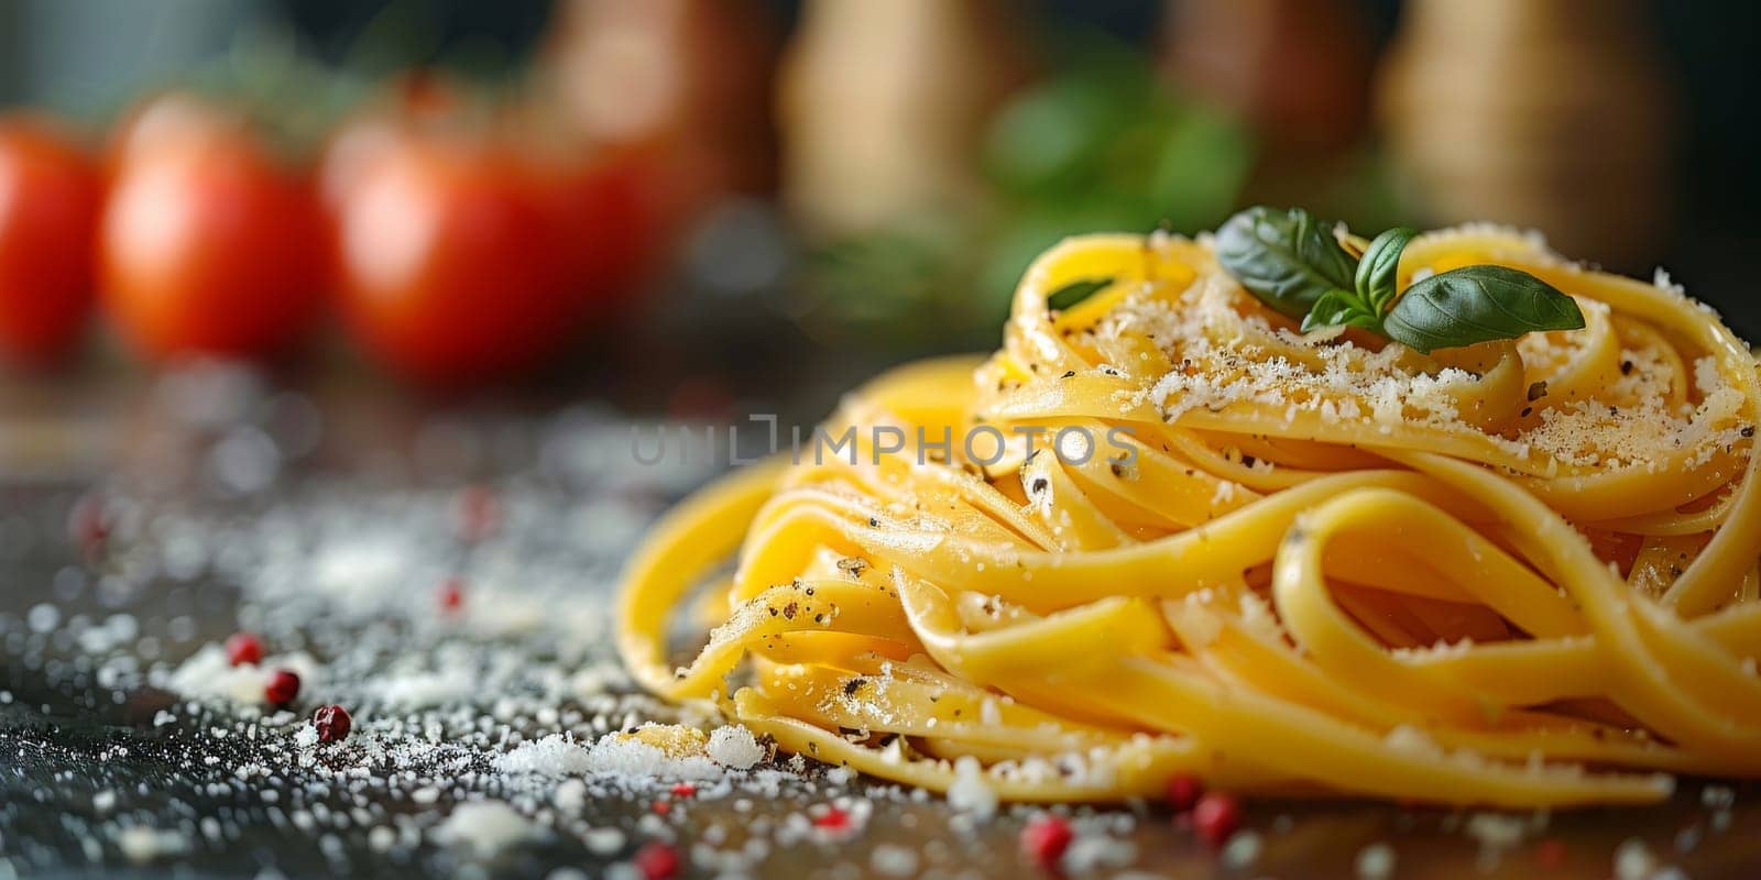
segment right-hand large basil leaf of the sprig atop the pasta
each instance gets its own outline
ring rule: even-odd
[[[1580,327],[1578,303],[1541,278],[1504,266],[1463,266],[1416,282],[1382,319],[1389,338],[1425,354]]]

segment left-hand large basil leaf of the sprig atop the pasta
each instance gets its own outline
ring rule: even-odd
[[[1249,208],[1217,231],[1217,260],[1268,306],[1300,319],[1328,290],[1351,290],[1356,260],[1333,224],[1301,208]]]

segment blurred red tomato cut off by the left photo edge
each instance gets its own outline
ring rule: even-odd
[[[48,123],[0,120],[0,350],[63,357],[92,312],[97,171]]]

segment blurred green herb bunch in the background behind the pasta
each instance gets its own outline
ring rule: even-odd
[[[983,211],[831,243],[810,255],[803,287],[819,320],[863,338],[988,345],[1048,246],[1081,232],[1213,229],[1256,158],[1240,123],[1162,88],[1139,53],[1092,49],[997,111]]]

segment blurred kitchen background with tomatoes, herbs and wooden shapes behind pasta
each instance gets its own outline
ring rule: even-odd
[[[1541,229],[1668,266],[1752,338],[1757,19],[1747,0],[0,0],[5,384],[227,357],[389,396],[713,412],[803,363],[833,364],[829,389],[990,348],[1060,236],[1192,232],[1252,202],[1368,232]]]

